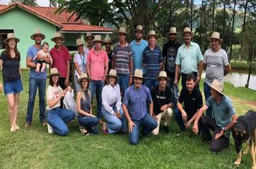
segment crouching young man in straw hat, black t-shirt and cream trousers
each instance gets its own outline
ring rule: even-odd
[[[161,71],[156,79],[159,85],[152,90],[152,100],[154,102],[154,117],[155,120],[157,120],[157,127],[152,131],[152,134],[158,135],[161,120],[164,120],[164,131],[168,134],[170,119],[173,116],[173,94],[167,86],[167,82],[170,78],[167,77],[165,71]]]

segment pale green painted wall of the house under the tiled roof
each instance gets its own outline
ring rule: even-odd
[[[14,29],[15,36],[20,39],[18,50],[22,56],[22,68],[26,67],[27,49],[35,44],[30,39],[35,29],[41,29],[42,33],[45,34],[45,39],[42,42],[48,42],[50,48],[54,45],[50,39],[56,32],[56,26],[18,7],[0,14],[0,29]]]

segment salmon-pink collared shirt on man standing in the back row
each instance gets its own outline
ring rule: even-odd
[[[103,49],[99,54],[96,54],[94,49],[91,49],[87,56],[87,63],[90,63],[91,79],[102,80],[104,78],[105,63],[109,64],[108,54]]]

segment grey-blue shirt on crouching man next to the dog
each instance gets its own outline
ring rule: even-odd
[[[223,128],[229,125],[232,115],[236,114],[229,97],[223,95],[221,101],[217,104],[213,97],[209,97],[206,101],[206,106],[211,108],[212,117],[216,122],[216,125]]]

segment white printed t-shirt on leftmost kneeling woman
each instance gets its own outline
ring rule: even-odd
[[[63,92],[63,89],[60,87],[60,85],[58,87],[52,87],[51,85],[49,85],[47,87],[47,91],[46,91],[47,107],[46,107],[46,110],[52,110],[56,107],[60,107],[60,100],[53,107],[50,107],[48,105],[48,100],[51,100],[52,98],[61,97],[61,92]]]

